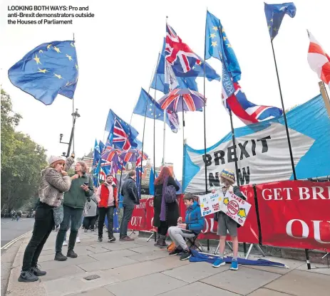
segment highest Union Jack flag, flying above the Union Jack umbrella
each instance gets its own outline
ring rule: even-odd
[[[182,39],[168,24],[166,24],[165,43],[165,59],[177,72],[187,73],[196,63],[201,64],[200,58],[186,43],[182,42]]]

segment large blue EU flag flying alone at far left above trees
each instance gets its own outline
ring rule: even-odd
[[[57,95],[73,98],[78,82],[78,60],[74,41],[43,43],[13,65],[9,80],[45,105]]]

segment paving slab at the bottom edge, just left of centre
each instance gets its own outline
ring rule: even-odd
[[[154,296],[175,290],[184,285],[187,285],[187,283],[163,275],[162,273],[155,273],[153,275],[145,275],[133,280],[107,285],[105,288],[116,296]]]

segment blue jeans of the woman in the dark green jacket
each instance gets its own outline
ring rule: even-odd
[[[63,212],[63,221],[56,237],[56,253],[62,252],[63,241],[66,236],[66,231],[68,231],[68,228],[70,227],[70,222],[71,231],[70,237],[68,238],[68,250],[73,250],[76,244],[78,229],[81,227],[82,223],[81,217],[83,216],[83,208],[71,208],[71,206],[63,206]]]

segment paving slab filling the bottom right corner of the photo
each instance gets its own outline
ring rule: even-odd
[[[297,296],[328,295],[330,291],[330,277],[329,275],[319,273],[293,270],[265,287]]]

